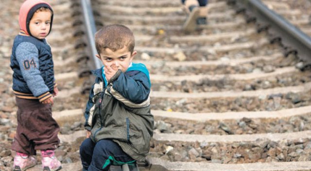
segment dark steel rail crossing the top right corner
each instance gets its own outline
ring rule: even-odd
[[[231,1],[232,2],[232,1]],[[238,6],[243,6],[246,13],[256,17],[256,22],[268,27],[268,33],[280,38],[285,55],[294,52],[302,59],[305,66],[311,64],[311,37],[288,22],[282,16],[270,10],[260,0],[235,0]],[[253,16],[251,16],[253,17]]]

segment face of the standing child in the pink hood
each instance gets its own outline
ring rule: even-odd
[[[29,23],[29,30],[32,36],[44,39],[50,32],[51,17],[52,13],[50,11],[35,12]]]

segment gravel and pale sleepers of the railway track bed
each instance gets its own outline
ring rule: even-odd
[[[310,35],[310,1],[263,2]],[[87,93],[81,92],[92,81],[89,68],[95,67],[79,1],[51,4],[55,19],[48,41],[61,90],[53,106],[62,126],[57,155],[64,170],[77,171],[87,100]],[[97,28],[121,23],[133,30],[135,60],[151,73],[152,165],[140,170],[311,170],[311,72],[302,69],[296,54],[286,57],[278,42],[271,44],[270,34],[258,33],[256,23],[247,23],[234,6],[210,0],[208,24],[184,33],[186,14],[179,0],[92,0],[91,5]],[[294,10],[285,13],[286,9]],[[1,60],[7,61],[3,54]],[[0,126],[8,136],[2,136],[0,144],[9,151],[16,107],[14,97],[7,95],[12,90],[5,90],[9,100],[1,114],[8,123]],[[12,155],[0,155],[2,166],[13,162]],[[30,171],[37,170],[39,166]]]

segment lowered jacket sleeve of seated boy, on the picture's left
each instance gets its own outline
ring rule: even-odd
[[[92,120],[92,118],[90,118],[90,117],[93,117],[93,113],[92,112],[94,111],[94,107],[95,107],[95,105],[94,105],[95,103],[93,102],[93,97],[94,97],[93,89],[94,89],[94,85],[95,84],[92,85],[91,90],[89,91],[88,101],[86,103],[86,111],[84,112],[84,117],[86,119],[84,127],[88,131],[91,131],[91,129],[92,129],[91,128],[92,125],[89,122],[89,120]]]

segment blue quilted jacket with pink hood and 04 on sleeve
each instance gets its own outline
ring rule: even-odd
[[[46,39],[33,37],[29,22],[40,7],[49,8],[43,0],[26,0],[19,10],[20,33],[15,37],[11,65],[13,69],[13,92],[18,98],[38,99],[40,102],[52,97],[54,70],[52,51]],[[51,25],[52,27],[51,17]],[[51,31],[51,29],[50,29]]]

